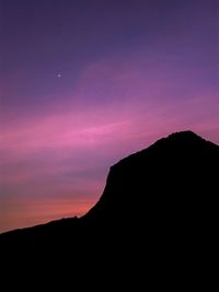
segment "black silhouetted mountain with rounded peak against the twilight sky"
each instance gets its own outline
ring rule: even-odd
[[[103,195],[82,218],[0,234],[5,277],[21,272],[24,282],[42,282],[43,270],[49,287],[59,279],[61,288],[81,288],[90,278],[101,291],[107,290],[102,280],[114,289],[132,282],[134,291],[149,282],[174,291],[203,288],[204,279],[209,288],[217,266],[218,165],[219,145],[196,135],[160,139],[111,167]]]

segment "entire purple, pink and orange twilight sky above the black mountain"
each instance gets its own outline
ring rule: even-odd
[[[0,0],[0,232],[84,214],[171,132],[219,143],[218,30],[218,0]]]

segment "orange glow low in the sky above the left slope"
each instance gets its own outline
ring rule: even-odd
[[[11,212],[0,214],[0,230],[7,232],[20,227],[30,227],[44,224],[62,218],[81,217],[95,203],[92,200],[76,198],[64,199],[26,199],[19,201],[15,212],[10,206]],[[22,210],[22,211],[21,211]]]

